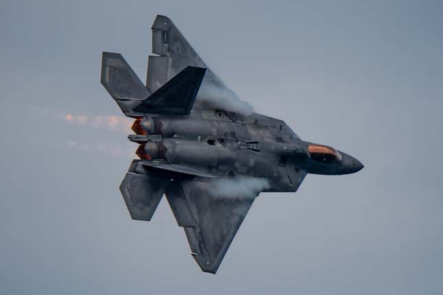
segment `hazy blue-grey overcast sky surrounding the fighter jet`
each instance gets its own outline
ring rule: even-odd
[[[1,1],[0,293],[442,294],[443,3],[332,2]],[[365,165],[262,194],[216,275],[166,200],[136,222],[117,189],[136,145],[101,53],[145,80],[156,14],[258,113]]]

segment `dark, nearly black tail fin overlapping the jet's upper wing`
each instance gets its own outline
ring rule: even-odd
[[[135,111],[168,115],[189,115],[205,75],[205,68],[186,67],[145,99]]]

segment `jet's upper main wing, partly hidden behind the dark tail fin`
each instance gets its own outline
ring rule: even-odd
[[[207,68],[205,62],[167,16],[158,15],[152,24],[152,53],[158,56],[149,56],[148,61],[146,86],[151,92],[156,91],[185,67]],[[227,110],[240,115],[253,112],[251,105],[242,102],[210,69],[207,69],[203,78],[196,106]]]

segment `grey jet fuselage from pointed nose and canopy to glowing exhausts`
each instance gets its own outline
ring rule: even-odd
[[[142,160],[214,177],[266,178],[266,191],[296,191],[306,173],[350,174],[363,167],[332,147],[302,141],[284,121],[257,113],[194,108],[188,116],[145,115],[133,130],[137,135],[129,139],[141,144]]]

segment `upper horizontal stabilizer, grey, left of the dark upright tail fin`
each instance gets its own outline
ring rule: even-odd
[[[121,54],[103,52],[101,82],[126,116],[140,115],[134,108],[150,95],[150,91]]]

